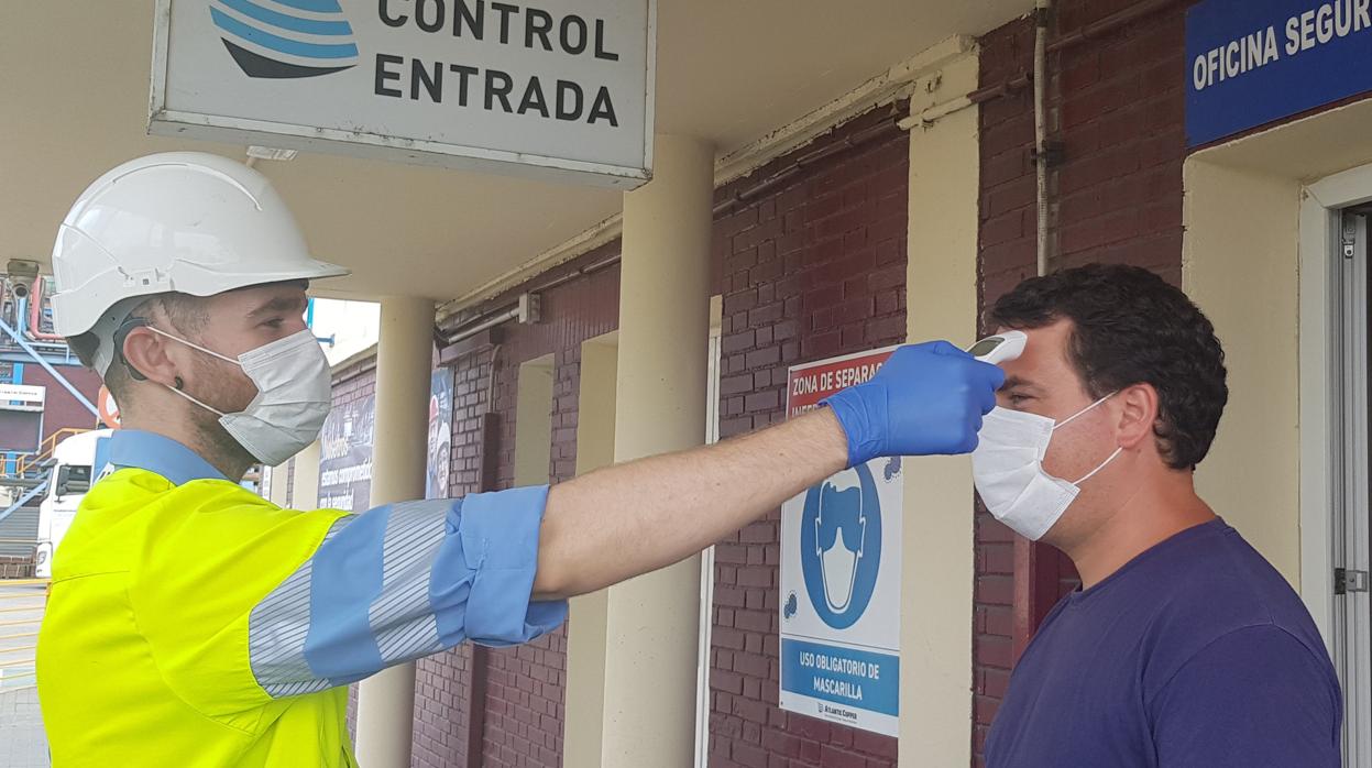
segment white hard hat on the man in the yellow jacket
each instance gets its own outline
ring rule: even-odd
[[[348,273],[310,256],[265,176],[204,152],[148,155],[97,178],[58,230],[52,272],[54,328],[66,337],[110,336],[132,299],[155,293],[211,296]],[[108,359],[99,362],[104,373]]]

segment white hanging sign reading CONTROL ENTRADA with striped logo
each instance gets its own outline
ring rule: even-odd
[[[634,188],[656,0],[158,0],[150,132]]]

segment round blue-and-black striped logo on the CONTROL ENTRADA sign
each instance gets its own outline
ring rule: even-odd
[[[318,77],[358,62],[338,0],[211,0],[210,18],[248,77]]]

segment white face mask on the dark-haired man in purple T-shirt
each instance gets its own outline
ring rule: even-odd
[[[981,501],[996,520],[1034,542],[1058,523],[1077,499],[1081,484],[1109,466],[1124,447],[1117,447],[1110,458],[1085,477],[1069,483],[1044,472],[1043,458],[1048,454],[1048,443],[1055,431],[1113,396],[1114,392],[1100,398],[1062,424],[1044,416],[1002,407],[986,414],[978,433],[980,443],[971,454],[971,473]]]

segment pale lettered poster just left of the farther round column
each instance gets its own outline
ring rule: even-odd
[[[320,435],[320,506],[364,512],[372,505],[376,398],[336,406]]]

